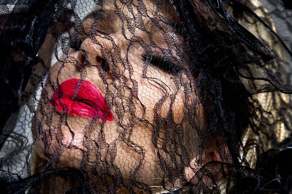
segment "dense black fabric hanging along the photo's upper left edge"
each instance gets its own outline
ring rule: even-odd
[[[0,129],[8,118],[19,109],[20,94],[31,76],[32,68],[37,63],[39,51],[48,28],[51,25],[56,2],[18,0],[16,13],[12,12],[1,32],[0,42],[0,79],[1,95]],[[0,147],[12,129],[0,131]]]

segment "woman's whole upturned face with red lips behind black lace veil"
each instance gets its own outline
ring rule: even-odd
[[[53,65],[42,92],[38,161],[83,170],[98,187],[103,173],[108,182],[152,186],[164,175],[166,185],[191,178],[188,167],[196,168],[203,141],[202,108],[183,36],[174,30],[175,9],[165,1],[157,10],[153,0],[105,0],[99,19],[91,14],[84,29],[75,29],[80,50]]]

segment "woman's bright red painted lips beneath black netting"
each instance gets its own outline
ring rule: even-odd
[[[105,98],[89,81],[73,78],[62,82],[51,98],[50,105],[73,115],[113,120]]]

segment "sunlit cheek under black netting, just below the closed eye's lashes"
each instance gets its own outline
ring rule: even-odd
[[[162,78],[160,78],[162,79]],[[145,80],[145,79],[144,79]],[[141,105],[137,100],[135,102],[139,117],[143,113],[145,118],[151,123],[154,122],[155,115],[165,118],[170,113],[173,116],[175,123],[182,122],[187,110],[186,104],[191,105],[196,99],[194,93],[190,94],[186,100],[183,92],[183,87],[177,89],[175,83],[172,82],[170,76],[166,75],[164,80],[167,84],[162,87],[162,84],[152,81],[140,81],[138,90],[138,99],[144,105]]]

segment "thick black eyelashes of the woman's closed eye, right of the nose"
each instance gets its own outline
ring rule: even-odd
[[[148,61],[152,65],[155,65],[163,69],[165,72],[173,73],[174,75],[179,73],[182,70],[182,67],[174,64],[172,61],[169,61],[158,54],[153,54],[150,56],[147,54],[143,54],[142,57],[145,61]]]

